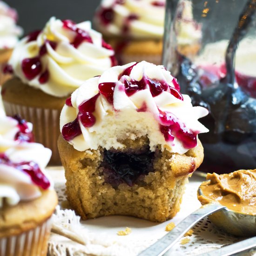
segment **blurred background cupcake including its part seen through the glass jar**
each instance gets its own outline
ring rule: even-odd
[[[175,23],[178,51],[186,56],[200,48],[201,26],[193,19],[191,3],[182,1]],[[120,64],[149,61],[161,64],[165,0],[102,0],[94,25],[115,49]]]

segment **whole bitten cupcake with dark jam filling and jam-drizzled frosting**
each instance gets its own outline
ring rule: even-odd
[[[208,129],[197,119],[207,113],[163,66],[146,61],[87,80],[61,112],[58,147],[72,209],[82,219],[175,216],[203,160],[197,135]]]

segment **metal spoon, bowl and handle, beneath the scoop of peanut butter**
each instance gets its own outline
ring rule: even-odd
[[[199,195],[202,195],[201,189],[198,189]],[[256,215],[237,213],[227,209],[219,203],[208,203],[187,216],[167,235],[163,236],[156,243],[142,251],[139,256],[162,256],[167,252],[190,228],[199,222],[205,216],[219,228],[226,232],[239,236],[256,236]],[[252,248],[251,244],[246,248]],[[240,248],[241,249],[241,248]],[[219,255],[219,254],[217,254]]]

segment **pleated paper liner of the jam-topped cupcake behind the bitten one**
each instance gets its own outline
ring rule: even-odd
[[[60,135],[61,110],[49,108],[34,108],[3,101],[6,114],[13,116],[19,114],[33,124],[35,142],[43,144],[52,150],[49,164],[61,165],[57,148],[57,139]]]

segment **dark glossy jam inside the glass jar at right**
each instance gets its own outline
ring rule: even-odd
[[[209,133],[200,134],[204,148],[202,171],[228,173],[256,168],[256,99],[245,78],[236,74],[238,86],[227,85],[214,68],[202,70],[179,55],[176,75],[183,94],[189,94],[194,106],[209,110],[200,122]],[[200,70],[199,70],[200,69]],[[256,83],[250,78],[250,83]]]

